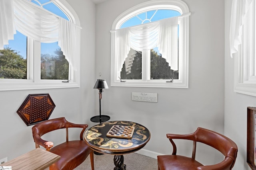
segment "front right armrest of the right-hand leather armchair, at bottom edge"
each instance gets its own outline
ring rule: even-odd
[[[226,157],[222,162],[215,165],[199,166],[198,170],[230,170],[232,167],[230,165],[234,160],[230,157]]]

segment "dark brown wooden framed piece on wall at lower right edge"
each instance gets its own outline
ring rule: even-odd
[[[252,170],[256,170],[256,107],[247,107],[247,158]]]

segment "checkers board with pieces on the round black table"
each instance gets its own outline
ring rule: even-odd
[[[131,139],[134,133],[134,127],[123,126],[123,125],[113,125],[107,133],[107,137],[117,137],[124,139]]]

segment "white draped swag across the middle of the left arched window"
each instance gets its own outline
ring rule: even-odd
[[[28,0],[13,0],[15,28],[36,41],[58,41],[59,18]]]

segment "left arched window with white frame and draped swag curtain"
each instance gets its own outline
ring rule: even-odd
[[[16,55],[26,66],[6,67],[14,73],[10,77],[0,70],[0,90],[79,87],[81,28],[72,7],[65,0],[13,0],[12,8],[16,34],[0,53],[6,60]],[[19,23],[24,18],[34,23]],[[18,69],[22,76],[21,71],[13,72]]]

